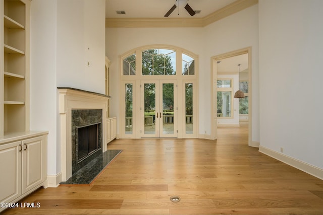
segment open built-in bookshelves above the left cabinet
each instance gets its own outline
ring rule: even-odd
[[[0,0],[0,136],[29,130],[30,0]]]

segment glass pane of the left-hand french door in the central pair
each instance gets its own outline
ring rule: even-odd
[[[156,84],[144,84],[144,127],[145,134],[155,134]]]

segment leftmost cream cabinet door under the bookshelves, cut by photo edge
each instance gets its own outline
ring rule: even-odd
[[[0,202],[21,195],[21,141],[0,146]]]

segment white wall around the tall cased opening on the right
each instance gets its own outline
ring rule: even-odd
[[[200,64],[205,65],[205,69],[209,67],[211,56],[251,46],[252,60],[251,65],[249,65],[249,68],[251,67],[252,74],[251,140],[253,142],[259,142],[258,5],[254,5],[239,13],[206,26],[204,41],[205,62],[200,62]],[[206,79],[209,79],[209,77],[206,77]],[[209,82],[206,82],[206,84],[208,83]],[[208,122],[210,120],[209,116],[210,113],[205,113],[203,121]]]

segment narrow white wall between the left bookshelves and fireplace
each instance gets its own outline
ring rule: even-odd
[[[48,130],[47,172],[56,175],[56,1],[31,1],[30,129]]]

